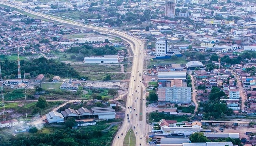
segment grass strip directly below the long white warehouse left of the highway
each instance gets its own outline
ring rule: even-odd
[[[121,65],[71,64],[78,71],[86,72],[121,72]]]

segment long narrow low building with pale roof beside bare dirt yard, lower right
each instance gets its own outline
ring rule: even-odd
[[[215,120],[201,120],[203,125],[212,125],[212,126],[248,126],[249,121],[215,121]]]

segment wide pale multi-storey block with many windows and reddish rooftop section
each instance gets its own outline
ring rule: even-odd
[[[166,87],[158,88],[158,105],[168,103],[191,103],[191,87],[185,81],[171,80]]]

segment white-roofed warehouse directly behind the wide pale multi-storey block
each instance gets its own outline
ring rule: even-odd
[[[170,80],[174,80],[174,79],[186,80],[187,72],[185,72],[185,71],[182,71],[182,72],[158,72],[157,77],[158,77],[158,82],[165,82],[165,81],[170,81]]]

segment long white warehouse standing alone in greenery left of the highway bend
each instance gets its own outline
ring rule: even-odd
[[[104,57],[84,57],[84,64],[118,64],[118,55],[104,55]]]

